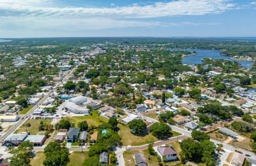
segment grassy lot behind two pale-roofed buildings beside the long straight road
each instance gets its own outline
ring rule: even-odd
[[[16,132],[17,133],[19,133],[19,132],[26,132],[26,124],[30,123],[31,126],[27,127],[27,131],[30,131],[31,135],[36,135],[37,132],[39,132],[40,134],[44,134],[45,131],[39,131],[38,130],[38,126],[40,125],[40,121],[43,121],[47,125],[49,125],[52,122],[52,120],[50,120],[50,119],[32,119],[32,120],[27,120],[20,128],[17,129]]]

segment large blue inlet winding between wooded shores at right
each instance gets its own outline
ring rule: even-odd
[[[214,59],[228,59],[234,61],[234,59],[231,59],[231,56],[225,56],[225,55],[220,55],[219,50],[212,50],[212,49],[170,49],[171,51],[173,50],[181,50],[181,51],[189,51],[193,52],[196,51],[196,55],[191,55],[191,56],[185,56],[183,57],[182,63],[187,63],[187,64],[201,64],[203,63],[201,59],[203,58],[214,58]],[[238,63],[241,63],[241,66],[244,66],[246,68],[252,68],[252,66],[247,66],[252,63],[253,61],[246,61],[246,60],[236,60]]]

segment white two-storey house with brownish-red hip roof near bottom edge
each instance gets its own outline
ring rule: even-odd
[[[162,161],[163,156],[165,156],[168,161],[177,159],[177,152],[171,145],[157,147],[157,155],[161,157]]]

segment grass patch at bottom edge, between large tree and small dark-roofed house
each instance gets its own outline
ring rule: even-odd
[[[89,158],[88,152],[83,151],[82,152],[73,152],[69,155],[70,162],[67,166],[81,166],[83,165],[83,160]]]

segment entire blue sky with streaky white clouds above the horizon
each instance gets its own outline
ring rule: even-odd
[[[0,0],[0,38],[256,37],[254,0]]]

